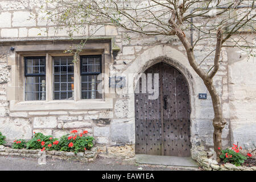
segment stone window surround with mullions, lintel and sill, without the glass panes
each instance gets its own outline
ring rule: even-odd
[[[112,43],[108,40],[93,40],[86,43],[80,55],[101,55],[102,73],[109,74],[109,64],[113,63],[111,55]],[[15,51],[7,57],[11,67],[11,80],[7,85],[7,100],[10,101],[10,111],[56,111],[56,110],[89,110],[89,109],[113,109],[113,97],[111,94],[103,94],[101,99],[81,100],[81,76],[80,56],[74,64],[74,100],[53,100],[53,59],[52,56],[71,56],[64,53],[65,49],[76,49],[80,40],[48,40],[5,43],[5,46],[15,47]],[[70,47],[71,46],[71,47]],[[24,57],[46,56],[46,100],[24,100]],[[103,89],[108,89],[104,85]]]

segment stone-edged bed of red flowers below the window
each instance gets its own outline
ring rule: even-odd
[[[78,159],[82,162],[92,162],[97,157],[97,148],[93,147],[94,138],[87,135],[88,131],[78,134],[77,130],[63,135],[60,139],[34,133],[27,142],[16,139],[12,148],[0,146],[0,155],[27,156],[39,158],[46,155],[51,159]],[[2,136],[2,139],[5,139]],[[4,141],[3,141],[4,142]],[[2,142],[2,144],[3,144]]]

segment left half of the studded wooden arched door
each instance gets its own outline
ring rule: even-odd
[[[159,74],[159,68],[159,65],[155,64],[144,73],[146,76],[148,73]],[[154,81],[154,75],[152,80]],[[135,153],[161,155],[160,97],[148,100],[148,92],[142,93],[142,85],[142,80],[138,81],[140,91],[135,93]]]

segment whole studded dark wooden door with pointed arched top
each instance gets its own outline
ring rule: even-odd
[[[190,104],[186,78],[165,63],[152,65],[144,73],[146,76],[148,73],[159,74],[159,97],[148,99],[148,92],[142,93],[142,80],[137,82],[140,89],[134,94],[135,153],[190,156]]]

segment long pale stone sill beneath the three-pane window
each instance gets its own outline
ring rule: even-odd
[[[105,100],[10,101],[10,111],[56,111],[113,109],[113,98]]]

